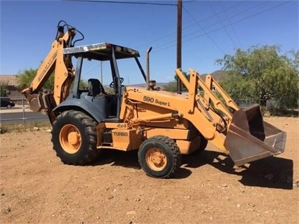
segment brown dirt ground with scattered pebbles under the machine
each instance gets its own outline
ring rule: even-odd
[[[67,166],[51,133],[4,133],[0,223],[299,223],[299,119],[265,120],[286,131],[283,154],[238,169],[208,145],[171,179],[146,176],[137,152]]]

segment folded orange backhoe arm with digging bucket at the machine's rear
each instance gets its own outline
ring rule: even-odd
[[[52,112],[53,108],[67,98],[74,79],[75,70],[72,58],[70,55],[63,55],[62,50],[72,45],[75,34],[76,31],[73,27],[68,27],[64,32],[63,27],[58,26],[58,35],[51,45],[51,51],[41,63],[30,86],[22,90],[30,109],[34,112],[46,110],[51,123],[56,117]],[[44,84],[53,72],[53,89],[48,93],[41,93]]]

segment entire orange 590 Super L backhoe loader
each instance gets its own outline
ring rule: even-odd
[[[22,91],[31,110],[48,114],[53,150],[63,163],[89,164],[104,149],[138,150],[148,176],[170,178],[181,165],[181,154],[201,152],[208,142],[237,166],[284,152],[286,133],[263,121],[259,105],[241,110],[211,75],[203,80],[190,69],[188,80],[178,68],[187,95],[163,91],[150,79],[149,64],[147,72],[142,69],[138,51],[109,43],[74,46],[84,39],[79,32],[82,38],[74,41],[77,32],[63,20],[58,23],[51,51]],[[124,59],[135,60],[144,87],[123,84],[118,63]],[[99,79],[88,79],[88,88],[80,88],[86,60],[109,63],[113,93]],[[42,91],[51,74],[53,89]]]

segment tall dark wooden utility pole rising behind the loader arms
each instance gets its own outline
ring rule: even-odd
[[[176,67],[182,68],[182,0],[178,0],[178,27],[177,27],[177,47],[176,47]],[[180,79],[176,81],[179,94],[182,93],[182,83]]]

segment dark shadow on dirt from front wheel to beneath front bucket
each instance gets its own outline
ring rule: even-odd
[[[205,150],[197,156],[185,155],[185,167],[197,168],[204,164],[216,169],[241,176],[243,185],[293,189],[293,160],[279,157],[267,157],[244,166],[234,166],[232,159],[224,153]]]

